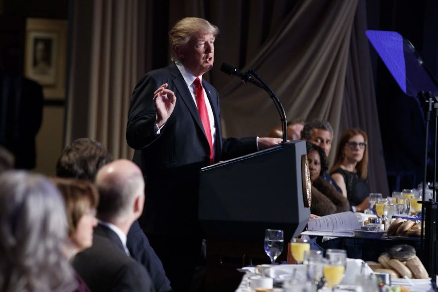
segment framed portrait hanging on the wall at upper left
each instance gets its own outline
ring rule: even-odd
[[[26,20],[25,75],[42,85],[46,99],[64,99],[66,34],[65,20]]]

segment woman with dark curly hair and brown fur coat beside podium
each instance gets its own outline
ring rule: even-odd
[[[309,142],[306,142],[306,147],[312,183],[311,213],[325,216],[350,211],[348,200],[322,177],[328,167],[324,150]]]

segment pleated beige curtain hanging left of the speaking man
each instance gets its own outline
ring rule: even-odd
[[[66,144],[90,137],[116,158],[132,157],[125,132],[131,92],[145,71],[145,12],[142,0],[74,1]],[[75,122],[82,130],[75,131]]]

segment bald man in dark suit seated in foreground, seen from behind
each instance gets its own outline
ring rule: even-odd
[[[99,225],[93,246],[78,253],[73,267],[92,291],[155,291],[146,269],[130,257],[128,230],[145,202],[141,170],[129,160],[103,166],[96,176]]]

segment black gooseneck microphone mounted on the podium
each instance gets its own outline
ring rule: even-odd
[[[281,104],[278,96],[274,93],[274,91],[266,84],[261,78],[255,73],[254,70],[249,69],[247,72],[242,73],[239,70],[236,69],[233,65],[230,65],[229,63],[222,63],[222,66],[220,67],[220,70],[228,74],[230,76],[238,76],[240,77],[240,80],[244,83],[252,83],[262,89],[264,89],[268,94],[270,95],[271,99],[274,101],[274,104],[278,110],[278,113],[280,115],[280,121],[282,123],[283,127],[283,142],[287,141],[287,121],[286,121],[286,112],[284,111],[283,105]],[[254,76],[257,80],[252,79],[251,77]]]

